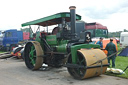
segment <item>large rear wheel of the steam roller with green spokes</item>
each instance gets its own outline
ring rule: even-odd
[[[25,64],[31,70],[38,70],[43,64],[43,50],[37,41],[28,42],[25,45]]]

